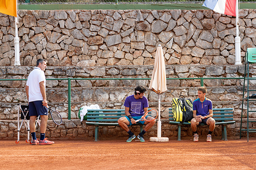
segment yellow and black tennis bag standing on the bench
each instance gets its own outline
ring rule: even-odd
[[[172,99],[172,114],[175,122],[190,122],[193,118],[192,100],[183,95]]]

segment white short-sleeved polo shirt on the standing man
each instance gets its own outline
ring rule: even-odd
[[[39,67],[35,67],[33,71],[29,74],[26,85],[29,86],[29,102],[43,100],[43,96],[40,91],[40,82],[44,81],[46,84],[44,71]]]

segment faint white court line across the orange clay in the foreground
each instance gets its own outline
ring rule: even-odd
[[[243,156],[243,155],[256,155],[256,153],[230,153],[230,154],[225,154],[225,153],[213,153],[213,154],[125,154],[125,156],[201,156],[201,155],[209,155],[209,156]],[[13,157],[13,156],[124,156],[123,154],[76,154],[76,155],[0,155],[0,157]]]

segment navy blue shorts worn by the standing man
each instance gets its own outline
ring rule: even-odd
[[[29,116],[48,115],[48,108],[43,106],[43,100],[29,102]]]

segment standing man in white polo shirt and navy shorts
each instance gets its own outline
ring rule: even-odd
[[[45,131],[47,127],[48,120],[48,109],[47,109],[47,99],[46,99],[46,80],[44,71],[47,67],[47,61],[45,59],[38,59],[36,62],[36,67],[29,74],[26,83],[26,96],[29,100],[29,127],[32,135],[31,144],[54,144],[45,138]],[[40,125],[40,140],[36,138],[35,135],[35,120],[41,117]]]

